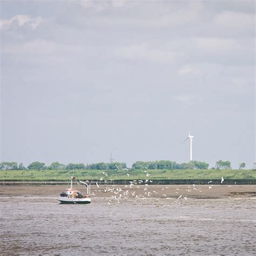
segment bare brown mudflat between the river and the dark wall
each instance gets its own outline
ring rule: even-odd
[[[11,185],[0,186],[0,197],[52,197],[57,198],[59,193],[65,190],[65,186],[59,185]],[[75,185],[75,189],[86,193],[86,187]],[[111,197],[116,189],[119,194],[124,191],[136,192],[136,195],[146,198],[178,198],[181,194],[187,198],[221,199],[221,198],[256,198],[255,185],[100,185],[91,186],[91,197]]]

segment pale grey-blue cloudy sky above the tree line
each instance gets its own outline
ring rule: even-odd
[[[0,161],[253,166],[254,1],[0,7]]]

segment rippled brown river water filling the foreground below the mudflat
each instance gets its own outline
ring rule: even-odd
[[[56,195],[57,197],[57,195]],[[255,255],[254,198],[0,197],[1,255]]]

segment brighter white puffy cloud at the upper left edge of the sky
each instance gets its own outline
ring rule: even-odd
[[[35,30],[39,24],[43,22],[41,16],[36,18],[31,18],[28,15],[15,15],[11,19],[1,19],[0,29],[9,30],[12,28],[17,28],[21,26],[28,26],[30,29]]]

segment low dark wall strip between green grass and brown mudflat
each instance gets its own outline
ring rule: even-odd
[[[151,180],[152,182],[147,181],[149,185],[221,185],[220,180],[196,180],[196,179],[181,179],[181,180]],[[91,180],[91,185],[95,185],[97,182],[98,185],[130,185],[131,180],[106,180],[106,181],[98,181]],[[133,181],[135,184],[136,181]],[[0,181],[0,186],[55,186],[55,185],[68,185],[69,181]],[[145,183],[145,180],[144,180]],[[143,183],[143,184],[144,184]],[[76,184],[76,182],[75,182]],[[256,185],[256,180],[248,180],[248,179],[226,179],[223,185]]]

